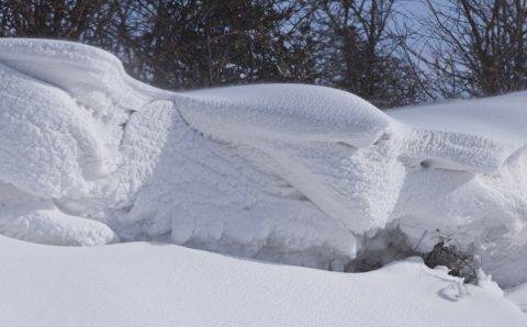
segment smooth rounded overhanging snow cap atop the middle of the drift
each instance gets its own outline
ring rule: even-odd
[[[178,105],[192,127],[233,143],[264,138],[362,147],[374,143],[390,123],[356,95],[314,86],[254,84],[182,95]]]

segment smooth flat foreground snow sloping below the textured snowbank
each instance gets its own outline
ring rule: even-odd
[[[176,245],[64,248],[0,237],[4,326],[526,326],[502,295],[418,260],[368,273]]]

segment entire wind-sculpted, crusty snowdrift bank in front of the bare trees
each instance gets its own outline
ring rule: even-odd
[[[527,281],[526,93],[393,110],[303,84],[191,92],[86,45],[0,40],[0,233],[341,270],[397,224]],[[359,237],[360,236],[360,237]]]

